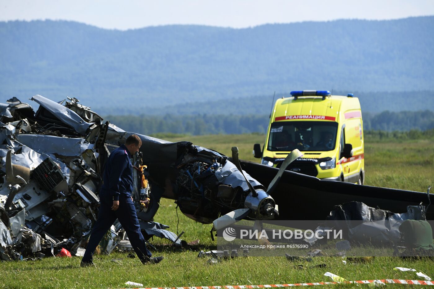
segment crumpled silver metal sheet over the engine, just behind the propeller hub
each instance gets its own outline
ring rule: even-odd
[[[251,177],[250,174],[247,174],[246,171],[243,170],[243,173],[253,187],[261,185],[261,183]],[[231,185],[233,188],[241,187],[245,192],[249,190],[249,186],[247,185],[243,175],[240,171],[238,171],[235,164],[230,161],[226,161],[226,163],[222,167],[219,167],[215,171],[215,176],[217,177],[217,180],[222,184]]]

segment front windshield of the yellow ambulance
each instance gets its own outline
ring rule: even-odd
[[[336,145],[337,122],[273,122],[268,151],[332,151]]]

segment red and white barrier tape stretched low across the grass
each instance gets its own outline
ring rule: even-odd
[[[294,283],[294,284],[272,284],[272,285],[235,285],[235,286],[200,286],[200,287],[148,287],[142,289],[252,289],[252,288],[271,288],[271,287],[292,287],[292,286],[314,286],[332,285],[341,283],[389,283],[389,284],[413,284],[413,285],[434,285],[434,281],[423,280],[404,280],[404,279],[378,279],[378,280],[359,280],[345,282],[315,282],[315,283]]]

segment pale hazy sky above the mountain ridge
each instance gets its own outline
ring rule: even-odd
[[[0,21],[74,20],[120,30],[166,24],[243,28],[424,15],[434,15],[434,0],[0,0]]]

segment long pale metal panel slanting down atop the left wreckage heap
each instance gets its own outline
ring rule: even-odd
[[[86,135],[87,129],[92,125],[89,122],[85,122],[76,112],[72,111],[71,109],[60,105],[57,102],[53,102],[50,99],[46,99],[41,95],[35,95],[31,98],[31,100],[37,102],[61,122],[71,128],[74,128],[81,135]]]

